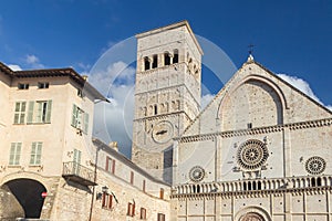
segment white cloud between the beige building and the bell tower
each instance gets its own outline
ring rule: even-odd
[[[111,101],[95,106],[94,136],[105,143],[117,141],[120,150],[131,157],[135,69],[118,61],[90,74],[89,82]]]

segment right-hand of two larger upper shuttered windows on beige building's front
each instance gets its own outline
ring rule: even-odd
[[[51,123],[52,101],[29,102],[27,124]]]

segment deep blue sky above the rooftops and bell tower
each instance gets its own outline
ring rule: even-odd
[[[6,64],[21,69],[72,66],[89,73],[117,42],[188,20],[196,34],[222,49],[237,67],[246,61],[252,43],[256,61],[274,73],[304,80],[324,105],[332,105],[332,2],[328,0],[1,3],[0,61]],[[203,76],[211,94],[220,90],[207,71]]]

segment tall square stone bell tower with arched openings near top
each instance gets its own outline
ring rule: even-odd
[[[132,160],[170,183],[173,138],[200,109],[203,51],[187,21],[136,38]]]

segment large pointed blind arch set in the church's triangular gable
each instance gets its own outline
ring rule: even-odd
[[[257,99],[256,96],[262,98]],[[272,106],[262,102],[263,98],[268,98]],[[247,129],[249,123],[253,123],[255,127],[271,126],[283,124],[287,108],[284,94],[276,83],[263,76],[250,75],[225,93],[216,118],[222,130]],[[256,114],[258,110],[261,113]]]

